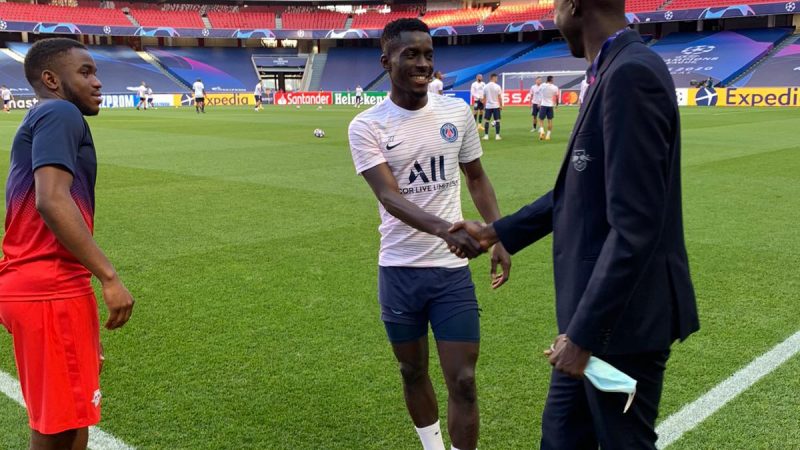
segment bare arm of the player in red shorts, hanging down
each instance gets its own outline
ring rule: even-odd
[[[133,311],[133,298],[92,238],[78,205],[70,195],[72,174],[56,166],[43,166],[36,169],[33,176],[36,209],[47,227],[102,284],[103,299],[109,312],[106,328],[113,330],[125,325]]]

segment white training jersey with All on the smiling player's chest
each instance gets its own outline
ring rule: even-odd
[[[387,163],[408,201],[449,222],[462,220],[459,163],[483,154],[475,119],[463,100],[429,95],[424,108],[409,111],[387,97],[350,122],[349,137],[357,173]],[[378,210],[381,266],[467,265],[439,237],[406,225],[380,202]]]

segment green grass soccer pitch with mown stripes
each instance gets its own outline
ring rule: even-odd
[[[96,238],[136,298],[102,332],[100,428],[140,449],[418,449],[376,299],[379,217],[347,145],[352,107],[104,110]],[[0,172],[22,112],[0,116]],[[483,143],[503,213],[550,189],[576,108],[552,141],[504,111]],[[701,331],[673,347],[660,420],[800,330],[800,110],[684,108],[683,200]],[[327,136],[317,139],[315,128]],[[462,192],[464,214],[478,218]],[[481,303],[481,449],[538,448],[556,335],[550,239]],[[101,306],[101,316],[105,308]],[[16,376],[0,333],[0,369]],[[435,358],[435,351],[432,358]],[[445,389],[431,364],[446,413]],[[670,448],[800,447],[795,356]],[[27,447],[0,396],[0,448]],[[449,439],[445,439],[449,442]]]

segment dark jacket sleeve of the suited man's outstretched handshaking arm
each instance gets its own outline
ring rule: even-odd
[[[503,247],[516,253],[553,231],[553,191],[493,223]]]

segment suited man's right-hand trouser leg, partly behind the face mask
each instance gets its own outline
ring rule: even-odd
[[[661,388],[669,351],[638,355],[603,356],[606,362],[636,379],[636,397],[627,413],[627,396],[601,392],[585,383],[586,397],[600,446],[607,449],[656,448],[655,432]]]

